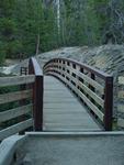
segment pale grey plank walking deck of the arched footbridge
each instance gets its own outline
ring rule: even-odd
[[[44,77],[44,131],[100,131],[86,107],[58,79]]]

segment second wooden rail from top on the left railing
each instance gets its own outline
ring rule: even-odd
[[[18,101],[32,97],[32,90],[22,90],[15,92],[9,92],[0,95],[0,103],[7,103],[12,101]]]

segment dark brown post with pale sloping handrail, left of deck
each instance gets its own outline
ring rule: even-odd
[[[30,59],[29,74],[35,75],[35,82],[33,85],[33,118],[34,130],[43,131],[43,72],[35,58]]]

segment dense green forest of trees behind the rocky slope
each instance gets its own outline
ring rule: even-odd
[[[0,64],[63,46],[124,43],[123,0],[0,1]]]

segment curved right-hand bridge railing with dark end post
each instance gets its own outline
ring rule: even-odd
[[[53,75],[65,82],[104,130],[112,130],[113,77],[111,75],[68,58],[53,58],[47,62],[44,74]]]

